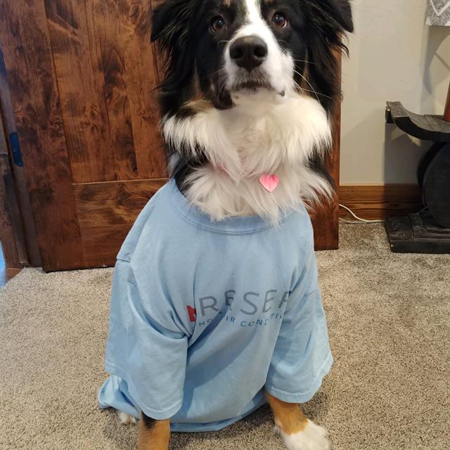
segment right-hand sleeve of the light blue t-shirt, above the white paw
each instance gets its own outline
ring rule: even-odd
[[[311,243],[302,274],[291,290],[271,359],[266,389],[283,401],[303,403],[319,390],[333,364],[326,316]]]

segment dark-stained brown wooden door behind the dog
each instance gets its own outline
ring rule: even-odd
[[[151,8],[150,0],[0,2],[0,49],[46,271],[114,264],[166,181]],[[317,247],[335,248],[337,214],[321,214]]]

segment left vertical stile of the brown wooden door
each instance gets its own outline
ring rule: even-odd
[[[0,46],[13,93],[44,269],[84,266],[46,11],[41,1],[0,3]]]

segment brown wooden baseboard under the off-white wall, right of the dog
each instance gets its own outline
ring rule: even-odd
[[[404,216],[423,208],[422,194],[416,184],[344,184],[339,188],[339,201],[361,219],[371,220]],[[343,209],[339,215],[344,219],[354,220]]]

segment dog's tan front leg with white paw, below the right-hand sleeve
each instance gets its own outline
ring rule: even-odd
[[[302,413],[300,405],[281,401],[269,392],[266,392],[266,398],[274,413],[276,430],[283,437],[288,450],[330,449],[325,428],[308,420]]]

